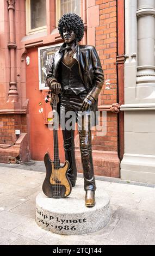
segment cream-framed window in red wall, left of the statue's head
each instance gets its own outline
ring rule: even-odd
[[[46,30],[46,0],[26,0],[27,34]]]

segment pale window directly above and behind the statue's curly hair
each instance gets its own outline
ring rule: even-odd
[[[65,13],[80,15],[80,0],[57,0],[57,23]]]

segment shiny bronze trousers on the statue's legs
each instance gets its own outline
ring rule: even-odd
[[[78,123],[78,133],[80,141],[80,154],[83,166],[84,175],[84,190],[96,190],[94,167],[92,162],[92,149],[91,149],[91,129],[90,129],[90,114],[89,111],[80,111],[80,106],[85,98],[86,94],[80,93],[76,95],[71,90],[65,91],[61,95],[60,100],[60,117],[63,118],[65,126],[62,127],[65,158],[70,163],[69,178],[72,186],[75,186],[77,179],[77,167],[75,159],[75,123]],[[69,112],[71,111],[71,112]],[[67,129],[66,123],[69,122],[70,114],[75,113],[75,119],[72,119],[72,129]]]

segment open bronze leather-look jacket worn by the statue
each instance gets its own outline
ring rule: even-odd
[[[46,77],[46,86],[49,86],[51,80],[61,83],[58,66],[63,57],[62,48],[64,47],[65,42],[60,47],[59,51],[54,54],[52,64],[49,66],[49,71]],[[96,48],[90,45],[79,45],[77,42],[76,52],[73,54],[73,58],[78,62],[79,74],[88,95],[95,99],[95,103],[91,106],[92,111],[95,112],[97,111],[98,95],[100,94],[104,83],[104,74]]]

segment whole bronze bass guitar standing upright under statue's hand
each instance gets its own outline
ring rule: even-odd
[[[51,93],[51,92],[49,92]],[[46,102],[48,102],[49,95]],[[65,161],[64,166],[60,166],[59,148],[58,148],[58,117],[57,117],[57,103],[59,101],[58,95],[51,93],[50,104],[53,108],[54,123],[53,123],[53,137],[54,137],[54,161],[49,157],[47,152],[44,156],[44,163],[46,167],[46,178],[42,185],[42,191],[50,198],[65,198],[69,196],[72,190],[71,181],[67,175],[70,163]]]

